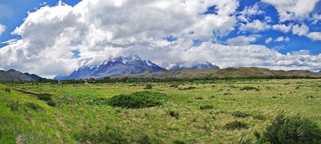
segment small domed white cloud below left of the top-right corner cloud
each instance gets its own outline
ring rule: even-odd
[[[266,24],[265,22],[261,22],[260,20],[255,19],[252,23],[240,24],[240,27],[238,29],[240,31],[259,32],[271,29],[271,26]]]

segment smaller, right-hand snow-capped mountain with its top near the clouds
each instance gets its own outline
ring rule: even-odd
[[[182,70],[182,69],[197,69],[197,68],[219,68],[215,64],[209,63],[208,61],[199,60],[185,60],[177,61],[176,63],[171,63],[167,70]]]

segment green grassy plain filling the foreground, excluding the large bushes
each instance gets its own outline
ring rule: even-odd
[[[238,143],[254,141],[253,132],[262,133],[280,111],[321,127],[321,79],[150,84],[0,85],[0,143]],[[143,91],[164,94],[162,105],[108,105],[113,96]],[[55,106],[39,93],[52,94]]]

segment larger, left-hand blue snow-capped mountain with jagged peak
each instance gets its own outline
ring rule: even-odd
[[[117,76],[123,74],[133,74],[152,70],[158,72],[165,70],[152,63],[150,60],[142,60],[136,54],[125,55],[117,58],[105,60],[99,66],[86,66],[76,69],[65,79],[86,79],[86,78],[104,78],[106,76]]]

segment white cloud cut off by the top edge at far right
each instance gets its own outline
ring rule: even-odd
[[[273,5],[279,15],[279,21],[303,20],[310,18],[310,13],[319,0],[263,0],[262,2]]]

